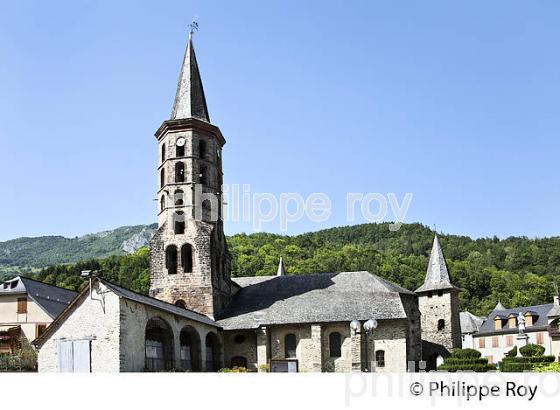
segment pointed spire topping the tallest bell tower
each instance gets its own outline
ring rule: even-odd
[[[172,120],[196,118],[210,122],[204,88],[198,71],[196,55],[192,41],[192,30],[189,32],[189,43],[183,58],[183,66],[177,84],[177,94],[171,113]]]

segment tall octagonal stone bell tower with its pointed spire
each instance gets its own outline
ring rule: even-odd
[[[214,317],[231,296],[222,221],[220,129],[210,124],[192,33],[171,119],[158,141],[158,230],[151,242],[150,296]]]

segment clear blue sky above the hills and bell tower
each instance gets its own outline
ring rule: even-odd
[[[333,201],[329,221],[287,233],[346,225],[347,192],[411,192],[407,222],[558,235],[559,12],[552,0],[4,2],[0,240],[155,221],[153,133],[193,16],[225,183]]]

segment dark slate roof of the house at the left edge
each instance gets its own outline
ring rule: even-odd
[[[27,294],[50,317],[56,318],[78,294],[72,290],[48,285],[24,276],[18,276],[0,285],[0,295]]]

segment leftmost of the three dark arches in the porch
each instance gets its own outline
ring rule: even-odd
[[[158,316],[148,320],[144,333],[144,346],[146,371],[169,371],[175,367],[173,330],[167,321]]]

